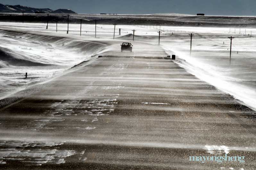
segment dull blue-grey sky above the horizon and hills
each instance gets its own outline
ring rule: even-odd
[[[0,0],[0,4],[24,5],[77,13],[152,14],[183,13],[255,16],[255,0]]]

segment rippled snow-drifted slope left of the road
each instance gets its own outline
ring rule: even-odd
[[[104,42],[15,30],[0,30],[0,44],[0,99],[109,49]]]

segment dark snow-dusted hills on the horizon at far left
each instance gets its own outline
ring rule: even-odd
[[[0,13],[68,13],[68,14],[76,14],[76,12],[69,9],[58,9],[52,10],[49,8],[32,8],[28,6],[22,5],[3,5],[0,4]]]

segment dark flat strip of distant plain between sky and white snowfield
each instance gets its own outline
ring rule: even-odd
[[[159,13],[147,15],[125,15],[125,14],[72,14],[69,16],[70,23],[93,24],[97,19],[98,24],[112,25],[165,25],[165,26],[193,26],[193,27],[251,27],[254,28],[255,16],[196,16],[176,13]],[[21,13],[1,13],[0,20],[4,22],[34,22],[45,23],[67,23],[66,14],[24,14]]]

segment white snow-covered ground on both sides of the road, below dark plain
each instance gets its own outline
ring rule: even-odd
[[[160,45],[168,54],[177,55],[176,63],[256,109],[256,29],[117,25],[115,40],[113,25],[97,25],[96,29],[95,38],[95,25],[83,24],[80,36],[80,24],[70,24],[67,35],[67,24],[58,24],[56,32],[52,23],[47,30],[42,23],[0,23],[0,98],[47,80],[91,56],[119,49],[120,42],[132,42],[133,29],[134,41],[158,45],[161,30]],[[194,34],[192,56],[190,33]],[[231,63],[229,36],[235,37]],[[143,47],[133,48],[136,53]],[[29,79],[23,79],[26,72]]]

